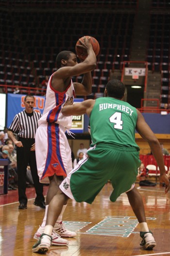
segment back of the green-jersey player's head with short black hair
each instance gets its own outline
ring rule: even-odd
[[[118,79],[112,79],[106,84],[107,96],[114,98],[123,98],[125,85]]]

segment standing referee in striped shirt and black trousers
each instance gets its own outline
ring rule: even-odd
[[[39,182],[37,174],[34,139],[41,114],[33,110],[33,95],[25,96],[24,105],[25,110],[15,116],[8,129],[8,137],[11,138],[17,146],[18,209],[27,209],[26,172],[28,164],[31,168],[36,192],[34,205],[45,208],[46,204],[43,196],[43,184]],[[14,133],[17,134],[18,138],[15,138]]]

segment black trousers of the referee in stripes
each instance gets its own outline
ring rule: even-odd
[[[31,174],[34,181],[36,192],[35,201],[44,201],[43,184],[39,182],[37,174],[35,151],[30,151],[34,144],[34,138],[18,138],[22,142],[23,147],[17,147],[17,174],[18,174],[18,197],[19,203],[27,203],[26,196],[26,174],[27,166],[30,165]]]

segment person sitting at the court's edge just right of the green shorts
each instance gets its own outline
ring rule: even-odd
[[[137,178],[139,179],[140,186],[149,186],[149,187],[156,186],[155,183],[147,180],[148,173],[149,173],[149,170],[144,166],[143,163],[141,163],[141,165],[138,169],[138,175],[137,175]]]

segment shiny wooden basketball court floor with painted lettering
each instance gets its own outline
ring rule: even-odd
[[[156,187],[139,187],[148,226],[156,247],[139,249],[139,226],[126,194],[110,202],[107,183],[92,205],[71,200],[64,213],[65,225],[77,232],[68,246],[52,246],[48,256],[170,256],[170,193]],[[47,194],[48,187],[44,187]],[[27,210],[18,210],[17,191],[0,196],[0,256],[37,256],[32,253],[33,236],[44,216],[35,206],[34,188],[27,188]]]

